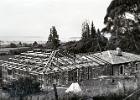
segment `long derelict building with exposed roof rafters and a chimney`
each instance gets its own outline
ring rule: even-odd
[[[67,85],[101,76],[133,76],[140,70],[140,56],[118,50],[78,55],[28,51],[3,61],[1,67],[3,83],[29,76],[43,86]]]

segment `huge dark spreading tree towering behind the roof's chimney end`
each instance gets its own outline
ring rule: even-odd
[[[139,12],[140,0],[112,0],[104,18],[106,27],[102,31],[112,34],[110,43],[113,49],[119,46],[125,51],[140,50]]]

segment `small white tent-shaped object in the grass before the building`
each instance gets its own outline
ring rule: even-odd
[[[70,87],[65,92],[66,93],[69,93],[69,92],[72,92],[72,93],[81,93],[82,90],[81,90],[81,88],[80,88],[80,86],[79,86],[78,83],[72,83],[70,85]]]

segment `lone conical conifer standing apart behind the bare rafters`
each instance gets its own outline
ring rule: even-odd
[[[60,46],[59,35],[57,34],[55,26],[50,28],[50,35],[48,37],[47,46],[51,49],[57,49]]]

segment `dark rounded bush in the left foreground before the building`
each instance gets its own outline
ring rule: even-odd
[[[33,78],[22,77],[7,85],[7,91],[11,96],[26,96],[40,92],[40,83]]]

